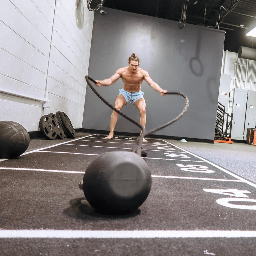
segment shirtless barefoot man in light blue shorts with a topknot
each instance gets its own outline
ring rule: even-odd
[[[120,77],[124,83],[123,89],[119,89],[119,95],[115,100],[115,108],[120,110],[127,102],[133,101],[134,105],[140,111],[140,124],[145,127],[146,125],[146,102],[141,91],[141,83],[145,80],[155,91],[159,92],[162,96],[166,95],[166,90],[163,90],[157,83],[155,83],[149,76],[146,70],[139,68],[140,60],[133,53],[128,60],[129,66],[119,68],[115,74],[104,80],[95,80],[96,86],[109,86],[116,82]],[[118,113],[113,111],[110,120],[110,131],[106,139],[112,139],[114,135],[114,128],[117,122]],[[141,131],[142,132],[142,131]],[[146,141],[143,138],[143,141]]]

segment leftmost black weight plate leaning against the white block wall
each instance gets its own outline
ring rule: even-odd
[[[39,121],[39,128],[44,136],[49,140],[54,140],[57,137],[56,123],[48,115],[43,115]]]

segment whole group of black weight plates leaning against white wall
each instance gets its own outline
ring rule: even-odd
[[[54,140],[55,138],[63,139],[64,135],[67,138],[76,137],[76,131],[67,114],[60,111],[56,115],[50,113],[49,115],[42,116],[39,121],[39,128],[45,138],[49,140]]]

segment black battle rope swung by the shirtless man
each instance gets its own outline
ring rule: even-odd
[[[182,112],[176,117],[174,118],[172,121],[169,121],[166,124],[163,124],[161,126],[156,127],[155,129],[150,130],[149,132],[146,133],[145,128],[138,122],[136,122],[135,120],[133,120],[132,118],[130,118],[129,116],[127,116],[126,114],[122,113],[120,110],[116,109],[112,104],[110,104],[108,101],[106,101],[95,89],[94,87],[91,85],[91,83],[89,82],[89,80],[91,80],[93,83],[97,84],[97,82],[92,79],[91,77],[86,76],[85,77],[87,84],[90,86],[90,88],[92,89],[92,91],[106,104],[108,105],[111,109],[113,109],[114,111],[116,111],[118,114],[122,115],[124,118],[126,118],[127,120],[131,121],[132,123],[136,124],[138,127],[140,127],[140,129],[142,130],[141,135],[138,137],[137,140],[137,148],[135,150],[135,153],[137,153],[139,156],[147,156],[147,153],[145,151],[142,150],[142,143],[143,143],[143,138],[153,132],[156,132],[158,130],[163,129],[164,127],[176,122],[177,120],[179,120],[187,111],[188,109],[188,105],[189,105],[189,101],[188,101],[188,97],[181,93],[181,92],[166,92],[166,94],[176,94],[176,95],[181,95],[185,98],[185,106],[184,109],[182,110]]]

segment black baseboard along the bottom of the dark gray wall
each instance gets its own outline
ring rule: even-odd
[[[81,128],[82,132],[87,133],[98,133],[98,134],[109,134],[109,131],[104,130],[94,130],[94,129],[85,129]],[[115,132],[115,135],[123,135],[123,136],[139,136],[139,133],[129,133],[129,132]],[[156,134],[150,134],[147,136],[148,138],[161,138],[161,139],[167,139],[167,140],[182,140],[185,139],[186,141],[191,142],[205,142],[205,143],[214,143],[214,140],[206,140],[206,139],[198,139],[198,138],[188,138],[188,137],[176,137],[176,136],[166,136],[166,135],[156,135]]]

